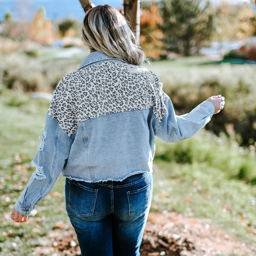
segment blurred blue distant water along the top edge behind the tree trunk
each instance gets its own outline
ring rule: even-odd
[[[121,0],[93,0],[95,5],[110,4],[119,8]],[[63,19],[66,17],[82,19],[84,10],[79,0],[0,0],[0,21],[3,20],[5,12],[11,11],[14,19],[25,16],[28,20],[33,18],[36,10],[43,6],[48,19]]]

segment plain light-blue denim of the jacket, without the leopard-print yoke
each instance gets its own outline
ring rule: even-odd
[[[79,68],[94,67],[106,60],[127,65],[124,60],[93,52]],[[204,127],[214,113],[213,104],[204,101],[190,113],[176,116],[170,98],[165,98],[163,106],[157,106],[165,111],[161,123],[150,107],[79,121],[70,136],[60,123],[46,115],[42,142],[32,161],[36,171],[15,203],[15,209],[29,215],[51,191],[60,173],[68,179],[89,183],[122,181],[134,174],[151,173],[155,136],[164,142],[187,139]]]

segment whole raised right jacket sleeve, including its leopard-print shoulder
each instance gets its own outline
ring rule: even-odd
[[[170,98],[163,92],[163,84],[154,74],[151,126],[155,136],[164,142],[177,142],[192,137],[207,124],[215,111],[205,100],[188,114],[177,116]]]

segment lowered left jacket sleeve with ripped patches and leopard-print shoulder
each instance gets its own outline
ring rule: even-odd
[[[16,211],[23,215],[28,216],[36,204],[51,191],[68,159],[76,133],[68,136],[68,129],[64,131],[60,125],[60,121],[65,118],[60,108],[67,104],[63,95],[66,95],[68,90],[68,85],[65,85],[62,79],[53,93],[46,115],[44,133],[39,137],[41,144],[31,162],[36,166],[36,171],[14,205]]]

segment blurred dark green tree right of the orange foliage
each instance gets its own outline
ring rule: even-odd
[[[162,0],[161,15],[163,42],[169,51],[189,56],[198,52],[212,34],[213,17],[209,1]]]

